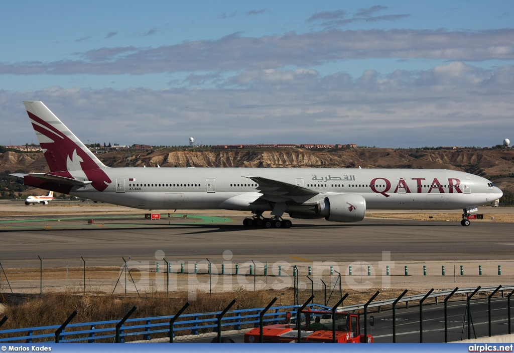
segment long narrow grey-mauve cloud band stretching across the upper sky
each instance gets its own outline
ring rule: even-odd
[[[261,38],[234,33],[219,40],[193,41],[157,48],[100,48],[78,53],[79,59],[56,62],[0,63],[0,74],[234,72],[290,66],[309,67],[338,60],[369,58],[512,60],[512,38],[513,29],[474,32],[326,30],[301,34],[289,32]]]

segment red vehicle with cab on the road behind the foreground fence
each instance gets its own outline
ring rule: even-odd
[[[290,318],[290,315],[288,315]],[[301,342],[333,342],[333,321],[331,311],[303,310],[300,320],[295,324],[264,326],[263,341],[266,343],[298,342],[298,325],[300,325]],[[373,342],[373,336],[367,338],[360,333],[359,315],[348,312],[336,312],[336,342],[337,343],[364,343]],[[260,342],[259,327],[252,328],[245,333],[246,343]]]

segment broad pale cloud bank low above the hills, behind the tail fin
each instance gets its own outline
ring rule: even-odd
[[[0,123],[9,131],[0,144],[34,139],[22,100],[43,100],[90,142],[175,145],[194,136],[206,144],[491,146],[514,136],[513,78],[513,66],[452,62],[389,75],[368,70],[355,79],[311,69],[250,70],[208,89],[0,91]]]

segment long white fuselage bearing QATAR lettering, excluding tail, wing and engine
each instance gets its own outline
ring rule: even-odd
[[[258,176],[318,191],[296,197],[314,204],[327,195],[362,195],[367,209],[460,209],[493,202],[502,192],[487,179],[451,170],[288,168],[105,168],[111,178],[99,192],[91,185],[70,194],[139,209],[226,209],[269,211]],[[290,203],[290,202],[289,202]],[[287,211],[286,211],[287,212]]]

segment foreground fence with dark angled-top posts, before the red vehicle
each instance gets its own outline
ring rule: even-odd
[[[464,288],[380,300],[380,291],[360,304],[302,304],[136,318],[134,306],[121,320],[0,330],[0,342],[451,342],[512,332],[514,286]],[[409,306],[410,303],[410,306]],[[341,305],[341,306],[340,306]],[[79,314],[80,315],[80,314]],[[68,325],[69,324],[69,325]],[[64,327],[66,330],[64,330]]]

